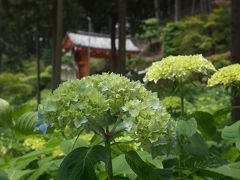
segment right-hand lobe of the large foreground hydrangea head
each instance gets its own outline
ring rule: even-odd
[[[134,123],[129,132],[137,141],[164,145],[174,140],[175,123],[157,98],[131,100],[123,110],[124,119]]]

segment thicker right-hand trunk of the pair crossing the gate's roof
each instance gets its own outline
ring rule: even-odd
[[[126,0],[118,0],[118,19],[119,19],[119,49],[118,49],[118,72],[125,73],[126,66]]]

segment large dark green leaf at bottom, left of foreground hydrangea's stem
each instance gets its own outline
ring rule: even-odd
[[[106,162],[105,147],[80,147],[68,154],[59,168],[58,180],[97,179],[94,165],[100,161]]]

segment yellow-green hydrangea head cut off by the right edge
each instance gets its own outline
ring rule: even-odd
[[[208,80],[208,86],[216,85],[238,85],[240,86],[240,64],[232,64],[219,69]]]

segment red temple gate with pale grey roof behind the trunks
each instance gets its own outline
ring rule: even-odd
[[[118,50],[118,39],[115,43]],[[68,51],[74,54],[78,67],[77,78],[82,78],[89,75],[90,57],[111,59],[111,39],[107,35],[96,33],[68,33],[63,42],[63,52]],[[130,39],[126,39],[126,52],[128,56],[139,53],[139,49]]]

